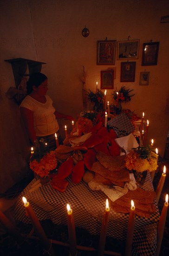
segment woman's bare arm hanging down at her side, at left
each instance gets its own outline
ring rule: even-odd
[[[25,122],[29,138],[34,145],[37,138],[33,127],[33,111],[28,108],[20,107],[20,114]]]

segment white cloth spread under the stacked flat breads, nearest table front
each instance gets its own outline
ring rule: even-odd
[[[93,180],[88,183],[89,187],[92,190],[101,190],[104,192],[105,195],[107,195],[112,202],[116,201],[121,196],[127,194],[128,189],[135,190],[137,189],[136,181],[134,178],[134,175],[130,174],[130,182],[126,182],[124,188],[114,186],[113,188],[110,188],[107,185],[103,185],[102,183],[94,182]]]

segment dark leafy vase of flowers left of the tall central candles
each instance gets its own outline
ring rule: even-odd
[[[88,96],[90,105],[93,104],[93,110],[102,112],[104,109],[104,93],[97,88],[96,93],[89,89],[89,92],[86,92],[86,94]]]

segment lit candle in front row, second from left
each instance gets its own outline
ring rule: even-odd
[[[75,232],[73,212],[69,204],[67,204],[67,225],[68,225],[68,233],[69,233],[70,255],[75,256],[77,254],[76,232]]]

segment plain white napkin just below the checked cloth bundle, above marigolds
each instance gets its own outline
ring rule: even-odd
[[[130,135],[117,138],[115,141],[119,147],[125,150],[126,155],[129,154],[131,148],[137,148],[139,146],[135,136],[132,133],[130,133]]]

